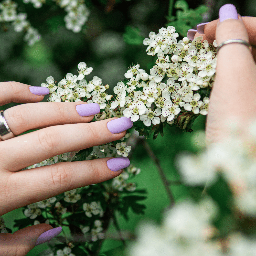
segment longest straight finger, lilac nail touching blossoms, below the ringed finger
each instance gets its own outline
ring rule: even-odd
[[[107,124],[114,124],[120,130],[112,133]],[[0,168],[15,172],[56,155],[116,141],[132,126],[130,118],[122,117],[55,125],[26,133],[1,142]]]

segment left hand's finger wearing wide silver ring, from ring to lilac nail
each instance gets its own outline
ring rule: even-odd
[[[87,123],[100,112],[98,103],[40,102],[28,103],[4,111],[4,117],[14,135],[60,124]]]

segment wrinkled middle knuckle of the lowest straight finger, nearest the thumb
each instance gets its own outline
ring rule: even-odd
[[[51,168],[51,185],[58,189],[68,189],[71,184],[71,172],[68,166],[61,163],[52,165]]]

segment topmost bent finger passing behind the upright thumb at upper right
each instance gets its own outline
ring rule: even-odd
[[[256,17],[242,16],[241,18],[243,20],[244,26],[246,27],[250,44],[256,45],[256,30],[255,30]],[[218,20],[216,19],[204,26],[204,33],[209,39],[212,39],[212,40],[215,39],[217,24],[218,24]]]

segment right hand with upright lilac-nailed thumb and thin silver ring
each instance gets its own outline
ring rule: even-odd
[[[219,14],[218,20],[204,27],[205,34],[196,33],[195,37],[203,35],[209,42],[216,39],[218,45],[233,38],[256,44],[255,17],[241,17],[231,4],[223,5]],[[233,118],[246,126],[256,117],[255,55],[256,48],[251,52],[242,44],[228,44],[219,50],[206,122],[208,142],[229,136],[228,122]]]

